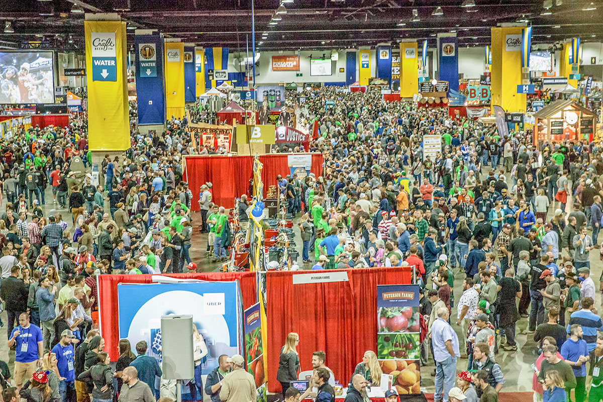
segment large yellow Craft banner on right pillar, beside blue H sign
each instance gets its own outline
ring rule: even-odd
[[[525,110],[526,94],[517,93],[522,85],[522,27],[491,28],[490,66],[491,105],[505,111]]]

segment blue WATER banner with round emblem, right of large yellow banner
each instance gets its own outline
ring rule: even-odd
[[[163,37],[160,34],[136,35],[134,44],[138,124],[163,124],[166,116]]]

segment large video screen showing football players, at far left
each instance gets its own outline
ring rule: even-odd
[[[0,52],[0,104],[54,104],[52,52]]]

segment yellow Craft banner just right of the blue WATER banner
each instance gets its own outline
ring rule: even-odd
[[[166,116],[182,119],[185,115],[185,44],[165,43],[165,106]]]

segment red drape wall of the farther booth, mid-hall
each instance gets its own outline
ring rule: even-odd
[[[269,154],[260,155],[264,196],[270,185],[276,186],[277,175],[285,177],[290,174],[287,155],[303,154]],[[310,172],[317,177],[323,171],[323,154],[311,154]],[[249,194],[250,179],[253,176],[252,156],[201,156],[185,157],[185,178],[192,191],[191,209],[199,210],[199,187],[210,181],[213,184],[213,202],[226,208],[235,206],[235,198],[241,194]]]

